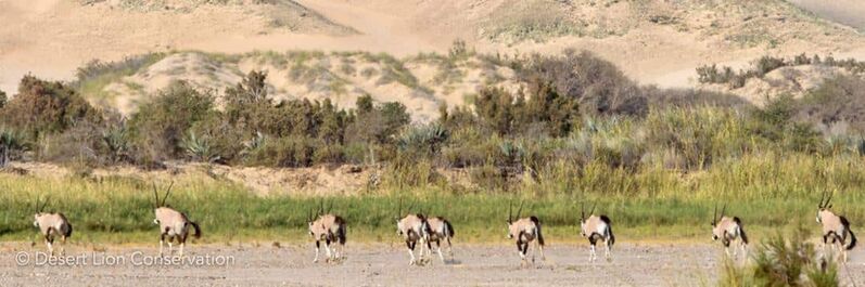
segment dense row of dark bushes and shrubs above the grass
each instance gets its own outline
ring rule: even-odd
[[[459,45],[451,52],[473,54]],[[0,108],[0,152],[3,160],[34,154],[28,158],[88,167],[161,167],[168,160],[283,168],[365,164],[382,167],[383,182],[397,186],[441,186],[448,182],[443,169],[460,168],[480,188],[614,186],[622,194],[643,192],[647,181],[664,182],[666,170],[865,155],[865,83],[856,77],[756,108],[729,94],[639,87],[588,53],[484,61],[513,67],[525,86],[481,89],[470,106],[442,106],[437,120],[416,123],[406,106],[376,103],[370,95],[359,96],[354,107],[329,100],[274,101],[260,71],[226,89],[221,108],[212,91],[176,82],[128,120],[94,109],[63,83],[28,76],[21,95]],[[804,56],[761,63],[752,73],[791,63],[855,67]]]

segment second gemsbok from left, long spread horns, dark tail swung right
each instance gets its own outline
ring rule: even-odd
[[[156,197],[156,201],[153,206],[153,213],[156,218],[153,220],[153,224],[160,225],[160,256],[163,255],[165,237],[168,237],[168,255],[174,250],[171,240],[177,240],[177,243],[180,244],[178,256],[182,257],[183,247],[187,244],[187,237],[189,237],[189,227],[191,226],[195,230],[195,238],[201,238],[201,227],[199,227],[198,223],[190,221],[186,213],[165,205],[165,200],[171,193],[173,186],[174,182],[168,185],[168,188],[165,191],[165,196],[160,200],[160,193],[156,191],[156,184],[153,184],[153,195]]]

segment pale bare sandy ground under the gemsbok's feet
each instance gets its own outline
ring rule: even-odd
[[[313,263],[308,246],[238,247],[191,246],[190,258],[224,257],[225,265],[137,265],[153,248],[122,247],[93,252],[72,247],[68,255],[85,255],[87,265],[35,266],[35,251],[5,244],[0,253],[0,285],[42,286],[700,286],[713,285],[721,249],[714,245],[622,244],[611,262],[587,261],[584,245],[552,245],[547,260],[521,268],[510,246],[458,246],[448,264],[437,260],[425,266],[408,266],[408,255],[396,245],[348,245],[341,263]],[[23,245],[22,245],[23,246]],[[30,262],[21,266],[14,249],[25,250]],[[37,249],[42,250],[42,249]],[[97,266],[104,258],[105,265]],[[110,258],[126,263],[110,266]],[[137,258],[137,259],[133,259]],[[137,263],[136,263],[137,262]],[[843,282],[865,284],[865,251],[851,253]]]

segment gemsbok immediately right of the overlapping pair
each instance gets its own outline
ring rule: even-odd
[[[535,243],[532,250],[537,248],[540,252],[540,260],[546,261],[544,256],[544,234],[540,232],[540,220],[535,216],[520,218],[523,211],[523,203],[517,211],[517,220],[513,219],[513,205],[508,205],[508,239],[517,239],[517,251],[520,253],[521,265],[526,265],[525,256],[529,252],[529,244]],[[535,263],[535,251],[532,251],[532,263]]]

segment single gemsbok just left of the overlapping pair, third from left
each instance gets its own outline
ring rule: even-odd
[[[330,207],[332,208],[333,205],[331,204]],[[345,251],[346,223],[342,217],[331,213],[331,208],[328,208],[326,211],[322,204],[318,209],[317,218],[313,217],[311,210],[307,213],[309,236],[313,236],[313,239],[316,240],[316,258],[313,259],[313,262],[318,262],[318,253],[322,240],[325,242],[325,256],[327,256],[325,262],[335,262],[342,259],[342,253]],[[332,252],[330,249],[331,243],[338,243],[340,245],[340,247],[334,248]]]

